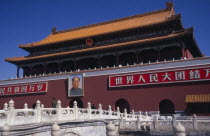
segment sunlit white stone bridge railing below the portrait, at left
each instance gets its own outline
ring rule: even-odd
[[[141,112],[140,112],[141,113]],[[112,111],[109,106],[108,110],[103,110],[102,105],[98,105],[98,109],[91,109],[91,103],[87,104],[87,108],[78,108],[77,102],[74,102],[73,108],[62,108],[61,101],[57,101],[57,108],[44,108],[44,105],[38,100],[35,109],[28,109],[25,103],[23,109],[15,109],[14,101],[10,100],[9,105],[4,104],[3,110],[0,110],[0,127],[7,125],[21,125],[40,122],[59,122],[73,120],[110,120],[124,119],[126,121],[135,121],[140,117],[141,120],[151,120],[151,117],[145,115],[136,115],[134,111],[131,114],[124,110],[120,113],[120,109]]]

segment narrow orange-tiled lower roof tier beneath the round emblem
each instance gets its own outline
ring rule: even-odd
[[[113,47],[119,47],[119,46],[126,46],[126,45],[132,45],[132,44],[140,44],[140,43],[146,43],[146,42],[153,42],[157,40],[164,40],[164,39],[170,39],[174,37],[179,37],[188,33],[192,33],[193,29],[186,29],[180,32],[172,33],[170,35],[161,36],[161,37],[155,37],[155,38],[148,38],[148,39],[142,39],[137,41],[130,41],[130,42],[124,42],[124,43],[117,43],[117,44],[111,44],[106,46],[99,46],[99,47],[92,47],[92,48],[86,48],[86,49],[80,49],[80,50],[74,50],[74,51],[67,51],[67,52],[60,52],[60,53],[54,53],[54,54],[46,54],[46,55],[40,55],[40,56],[34,56],[34,57],[14,57],[14,58],[6,58],[5,61],[8,62],[21,62],[21,61],[27,61],[27,60],[34,60],[34,59],[40,59],[40,58],[48,58],[48,57],[55,57],[60,55],[68,55],[68,54],[74,54],[74,53],[81,53],[86,51],[94,51],[94,50],[101,50],[101,49],[107,49],[107,48],[113,48]]]

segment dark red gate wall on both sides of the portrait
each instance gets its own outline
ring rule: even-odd
[[[114,109],[118,99],[126,99],[131,110],[135,111],[157,111],[159,102],[163,99],[171,100],[175,105],[175,110],[185,110],[185,97],[188,94],[210,93],[210,81],[171,83],[159,85],[145,85],[121,88],[108,88],[109,76],[85,77],[85,95],[81,97],[84,107],[87,102],[93,103],[96,107],[99,103],[103,109],[111,105]],[[15,101],[15,108],[23,108],[24,103],[28,107],[40,100],[45,107],[51,107],[52,98],[61,100],[62,107],[67,107],[72,98],[67,97],[68,80],[54,80],[48,82],[48,92],[43,94],[14,95],[0,98],[0,108],[10,99]]]

